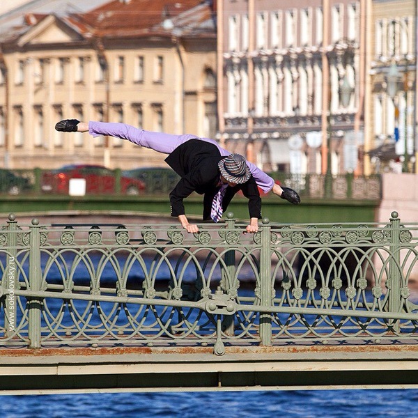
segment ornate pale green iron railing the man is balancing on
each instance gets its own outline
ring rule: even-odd
[[[0,346],[414,343],[418,224],[0,231]]]

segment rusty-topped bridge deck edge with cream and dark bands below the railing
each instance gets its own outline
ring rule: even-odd
[[[0,350],[0,394],[418,387],[418,346]]]

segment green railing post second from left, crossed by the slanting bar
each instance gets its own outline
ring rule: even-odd
[[[40,291],[42,280],[40,268],[40,226],[38,219],[32,219],[29,253],[29,288]],[[42,300],[39,297],[28,297],[29,306],[29,347],[40,348],[40,318]]]

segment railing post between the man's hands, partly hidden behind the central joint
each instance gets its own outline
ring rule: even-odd
[[[233,219],[233,213],[228,212],[226,214],[226,233],[235,229],[235,219]],[[226,246],[229,246],[229,240],[226,236]],[[226,251],[224,256],[224,263],[226,268],[222,268],[221,272],[221,284],[224,293],[231,295],[231,289],[233,288],[233,279],[235,278],[235,250],[230,249]],[[222,330],[225,334],[233,335],[234,333],[234,320],[233,315],[226,315],[222,320]]]

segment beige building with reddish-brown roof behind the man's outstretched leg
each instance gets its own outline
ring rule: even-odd
[[[124,122],[214,137],[216,36],[197,0],[116,0],[84,14],[28,14],[1,42],[0,153],[10,168],[130,169],[164,156],[128,141],[63,134],[56,121]]]

